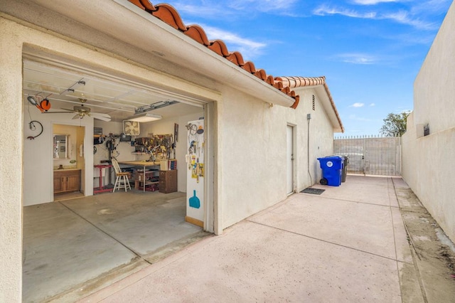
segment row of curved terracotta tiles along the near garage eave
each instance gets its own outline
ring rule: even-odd
[[[255,65],[252,62],[248,61],[247,63],[245,63],[242,54],[237,51],[230,52],[223,41],[221,40],[208,41],[208,38],[205,35],[205,31],[203,31],[203,28],[201,28],[200,26],[197,25],[185,26],[181,16],[178,14],[176,9],[173,8],[173,6],[169,4],[153,5],[149,0],[129,0],[129,2],[138,6],[141,9],[144,9],[144,11],[149,12],[149,14],[155,16],[156,18],[159,18],[161,21],[164,21],[169,26],[172,26],[173,28],[182,31],[183,33],[186,34],[186,36],[193,38],[193,40],[198,41],[198,43],[201,43],[203,46],[206,46],[210,50],[213,50],[213,52],[223,56],[230,62],[234,63],[235,65],[238,65],[240,68],[243,68],[248,73],[252,73],[252,75],[255,75],[257,78],[263,80],[269,85],[272,85],[278,90],[282,91],[284,87],[286,86],[290,87],[289,85],[286,85],[284,83],[280,84],[282,80],[280,80],[279,78],[273,78],[272,75],[267,75],[267,73],[265,73],[265,70],[262,69],[256,70]],[[295,92],[291,93],[290,90],[284,93],[293,97],[294,100],[296,100],[294,102],[294,105],[291,106],[292,108],[295,109],[297,105],[299,105],[298,101],[299,96],[296,95]]]

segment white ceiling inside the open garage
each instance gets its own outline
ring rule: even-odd
[[[163,116],[163,119],[201,112],[200,107],[186,103],[185,96],[166,92],[156,87],[144,87],[132,83],[122,83],[117,79],[87,75],[75,70],[58,68],[45,63],[24,60],[23,100],[34,96],[40,102],[47,97],[51,103],[49,112],[61,112],[61,108],[72,109],[81,105],[80,98],[86,99],[85,106],[92,112],[110,115],[112,121],[122,122],[134,115],[137,107],[161,105],[166,101],[178,101],[150,112]],[[68,112],[72,119],[73,112]]]

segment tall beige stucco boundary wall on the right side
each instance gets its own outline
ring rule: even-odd
[[[455,241],[455,4],[414,82],[414,112],[402,137],[402,176]],[[424,125],[429,135],[424,136]]]

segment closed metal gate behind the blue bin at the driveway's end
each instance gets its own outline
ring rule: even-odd
[[[337,137],[333,151],[348,156],[348,173],[401,175],[401,137]]]

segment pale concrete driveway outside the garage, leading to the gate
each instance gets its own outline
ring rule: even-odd
[[[314,188],[81,302],[422,302],[392,179]]]

